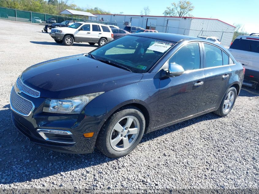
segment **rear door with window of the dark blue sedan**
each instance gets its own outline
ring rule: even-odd
[[[227,64],[229,60],[225,60],[226,53],[221,48],[209,43],[202,43],[202,45],[205,83],[198,112],[219,106],[231,77],[230,66],[234,65]],[[223,65],[223,59],[225,65]]]

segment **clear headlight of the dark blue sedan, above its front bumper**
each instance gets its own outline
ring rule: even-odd
[[[44,104],[43,112],[79,114],[91,100],[102,93],[104,92],[86,94],[66,99],[47,99]]]

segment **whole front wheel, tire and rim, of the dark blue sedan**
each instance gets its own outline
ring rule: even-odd
[[[145,130],[143,113],[134,106],[114,113],[102,127],[97,148],[109,158],[129,154],[140,142]]]

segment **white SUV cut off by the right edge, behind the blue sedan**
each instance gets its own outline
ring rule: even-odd
[[[228,50],[246,68],[245,78],[259,83],[259,36],[238,36]]]

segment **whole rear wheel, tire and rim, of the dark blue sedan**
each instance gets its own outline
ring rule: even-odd
[[[227,116],[227,114],[233,108],[235,101],[237,98],[237,90],[234,87],[231,87],[227,90],[226,94],[224,95],[218,110],[214,111],[215,114],[219,116]]]

